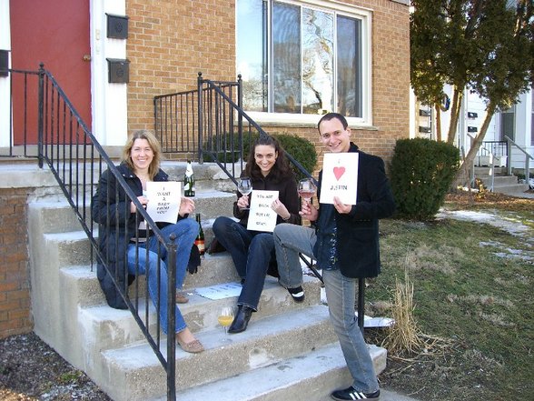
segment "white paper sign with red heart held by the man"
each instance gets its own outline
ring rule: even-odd
[[[325,153],[322,165],[321,204],[333,204],[338,196],[345,205],[356,205],[358,154]]]

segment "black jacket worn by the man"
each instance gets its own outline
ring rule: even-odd
[[[331,251],[328,239],[321,234],[321,226],[327,226],[326,216],[334,216],[337,227],[337,257],[341,274],[346,277],[375,277],[381,271],[379,245],[379,219],[391,216],[395,211],[395,201],[390,182],[386,176],[383,160],[369,155],[351,143],[349,152],[358,152],[358,189],[356,205],[351,213],[340,214],[333,205],[321,204],[315,224],[317,243],[314,254],[321,260],[328,258]],[[321,188],[322,170],[319,174]],[[318,194],[320,196],[320,194]],[[333,209],[326,213],[327,209]],[[321,218],[322,217],[322,218]],[[322,246],[321,246],[322,244]]]

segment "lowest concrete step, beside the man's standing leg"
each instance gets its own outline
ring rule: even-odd
[[[377,373],[386,367],[384,348],[369,346]],[[330,399],[334,388],[351,385],[339,343],[311,349],[303,356],[262,366],[202,386],[181,391],[181,401],[320,401]],[[166,397],[154,401],[165,401]]]

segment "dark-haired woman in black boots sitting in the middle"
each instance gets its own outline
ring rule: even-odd
[[[295,177],[276,139],[260,136],[254,141],[242,176],[251,177],[253,190],[278,191],[278,198],[271,205],[278,215],[276,224],[300,224],[300,204]],[[249,197],[238,193],[237,202],[233,204],[233,216],[238,218],[239,222],[220,216],[213,223],[213,233],[232,255],[233,264],[242,278],[242,291],[237,301],[238,311],[228,333],[241,333],[246,330],[252,312],[258,310],[265,276],[268,273],[272,276],[278,275],[272,233],[247,229],[248,207]],[[303,300],[298,291],[293,289],[293,292],[295,300]]]

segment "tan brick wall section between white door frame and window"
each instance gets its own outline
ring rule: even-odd
[[[128,130],[153,127],[153,96],[235,80],[233,0],[128,0]]]

